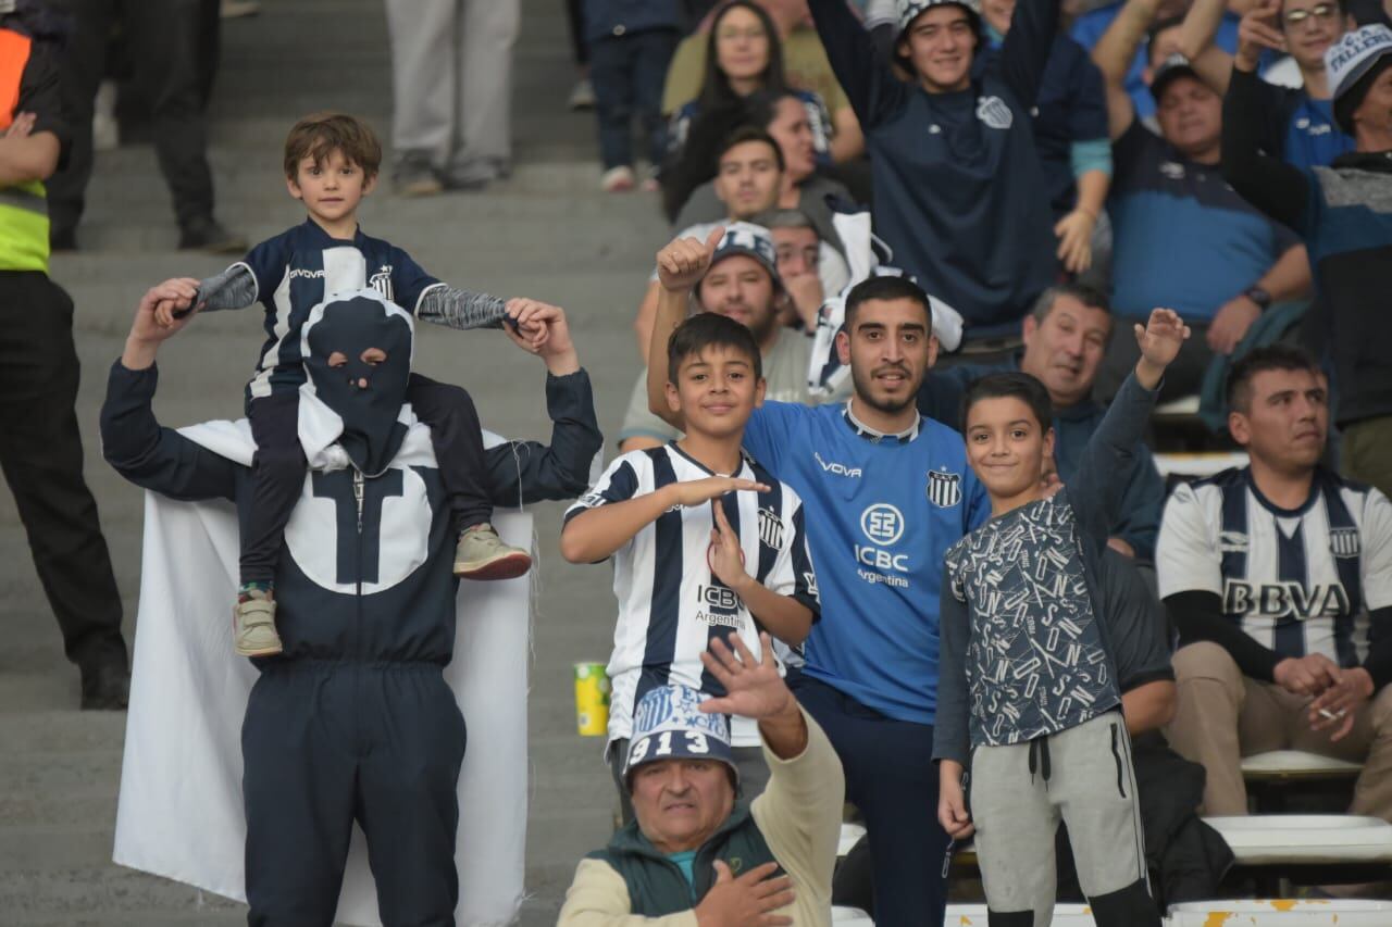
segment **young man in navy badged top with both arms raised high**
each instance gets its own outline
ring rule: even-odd
[[[1058,0],[1023,0],[986,68],[973,68],[984,52],[977,0],[899,0],[894,58],[909,82],[844,0],[809,7],[864,129],[876,232],[896,266],[962,313],[963,354],[1012,349],[1055,267],[1031,109]]]

